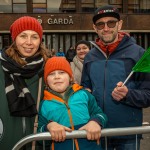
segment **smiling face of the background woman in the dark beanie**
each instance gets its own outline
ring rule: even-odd
[[[89,47],[86,44],[79,44],[76,48],[77,56],[84,60],[85,55],[89,52]]]

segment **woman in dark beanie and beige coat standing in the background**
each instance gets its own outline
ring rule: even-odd
[[[82,75],[82,68],[83,68],[83,61],[85,55],[91,49],[90,42],[81,40],[76,43],[75,50],[76,56],[73,58],[73,62],[71,62],[71,69],[73,71],[75,82],[80,84],[81,82],[81,75]]]

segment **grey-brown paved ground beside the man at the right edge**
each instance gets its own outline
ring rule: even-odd
[[[149,123],[150,125],[150,107],[144,109],[143,115],[144,115],[143,122]],[[150,150],[150,133],[143,135],[143,140],[141,140],[140,150]]]

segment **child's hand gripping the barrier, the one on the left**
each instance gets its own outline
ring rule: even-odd
[[[52,140],[56,142],[62,142],[66,139],[66,132],[71,132],[72,130],[68,127],[58,124],[57,122],[50,122],[47,125],[47,129],[49,130]]]

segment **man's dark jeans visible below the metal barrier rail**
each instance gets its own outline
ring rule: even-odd
[[[140,139],[107,139],[107,148],[105,140],[101,145],[103,150],[140,150]]]

